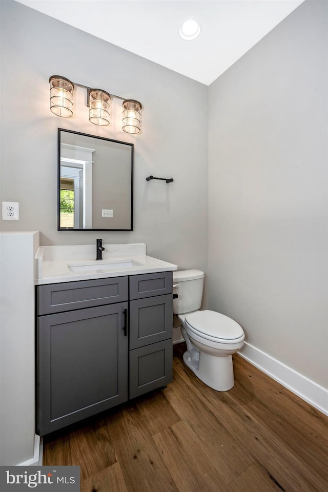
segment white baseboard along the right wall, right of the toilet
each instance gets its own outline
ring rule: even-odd
[[[245,342],[238,354],[320,412],[328,415],[328,389]]]

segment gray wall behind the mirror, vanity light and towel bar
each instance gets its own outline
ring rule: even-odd
[[[56,212],[57,128],[91,133],[135,144],[134,231],[100,237],[146,242],[150,256],[206,271],[207,86],[19,3],[1,10],[1,199],[19,202],[19,221],[2,230],[39,230],[42,245],[95,242],[96,232],[58,232]],[[139,100],[142,133],[92,125],[81,89],[74,118],[53,115],[48,80],[58,74]]]

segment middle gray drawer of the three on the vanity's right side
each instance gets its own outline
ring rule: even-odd
[[[130,301],[130,350],[172,338],[172,294]]]

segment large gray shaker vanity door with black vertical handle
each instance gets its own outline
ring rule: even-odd
[[[40,436],[128,399],[128,303],[37,318]]]

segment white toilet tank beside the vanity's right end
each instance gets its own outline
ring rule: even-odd
[[[181,270],[173,272],[173,313],[183,314],[197,311],[203,294],[204,272],[200,270]]]

